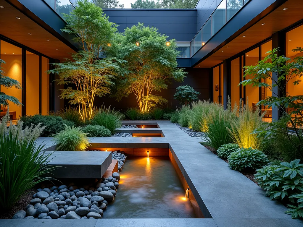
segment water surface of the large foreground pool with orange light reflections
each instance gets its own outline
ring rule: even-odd
[[[195,218],[168,157],[128,158],[102,218]]]

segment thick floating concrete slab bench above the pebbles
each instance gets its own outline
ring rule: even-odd
[[[111,152],[94,151],[45,151],[52,153],[47,165],[57,178],[101,178],[112,163]]]

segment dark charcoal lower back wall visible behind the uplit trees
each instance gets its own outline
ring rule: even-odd
[[[210,69],[196,69],[196,68],[186,68],[188,74],[185,78],[184,82],[178,83],[173,82],[172,84],[168,84],[168,89],[164,89],[161,93],[162,97],[168,100],[168,107],[175,108],[178,105],[178,101],[174,99],[173,95],[176,92],[176,88],[181,85],[190,85],[196,91],[200,92],[201,94],[198,96],[199,99],[209,99],[209,71]],[[95,105],[97,107],[101,106],[102,103],[106,107],[111,105],[111,107],[115,107],[115,109],[126,109],[132,106],[138,106],[137,100],[134,94],[130,94],[127,98],[123,98],[120,102],[117,102],[114,98],[109,97],[96,97]],[[165,106],[164,106],[165,107]]]

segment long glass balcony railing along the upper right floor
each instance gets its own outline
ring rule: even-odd
[[[222,0],[190,42],[191,56],[200,50],[248,1],[250,0]]]

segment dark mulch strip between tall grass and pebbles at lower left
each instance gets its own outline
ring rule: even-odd
[[[36,189],[28,189],[24,192],[24,195],[16,202],[15,206],[8,212],[2,213],[0,219],[11,219],[15,212],[19,210],[24,210],[29,202],[32,200],[32,196],[36,193]]]

